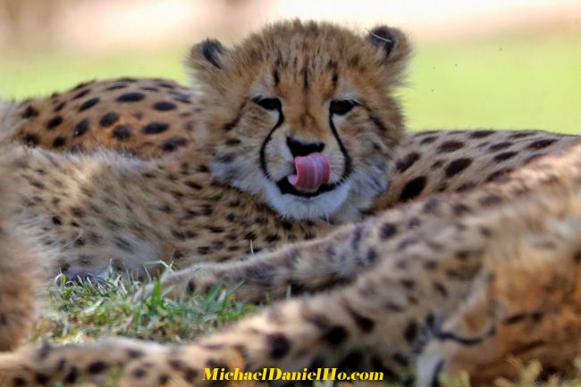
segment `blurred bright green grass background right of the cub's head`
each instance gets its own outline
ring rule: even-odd
[[[581,34],[418,46],[409,126],[581,134]]]

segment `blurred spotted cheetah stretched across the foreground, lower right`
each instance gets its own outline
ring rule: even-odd
[[[442,370],[467,369],[476,384],[514,376],[508,358],[541,358],[566,372],[580,344],[580,151],[264,256],[255,265],[286,261],[304,289],[328,291],[275,304],[196,343],[171,349],[110,339],[22,349],[0,357],[0,375],[27,383],[39,374],[65,379],[72,367],[75,376],[88,376],[97,365],[99,371],[122,366],[122,386],[206,385],[203,368],[232,359],[242,370],[300,370],[316,358],[324,366],[353,361],[353,351],[360,354],[358,370],[390,374],[418,349],[422,384]],[[409,229],[415,216],[425,222]],[[370,250],[375,259],[355,265],[357,273],[341,278],[341,286],[312,281],[307,262],[337,273],[341,257],[366,257]],[[271,283],[280,294],[282,284]]]

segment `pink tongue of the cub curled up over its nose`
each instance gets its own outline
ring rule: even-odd
[[[322,153],[295,157],[295,168],[297,174],[291,174],[288,179],[295,189],[302,192],[315,192],[331,177],[331,164]]]

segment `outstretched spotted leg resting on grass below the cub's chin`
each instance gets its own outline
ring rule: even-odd
[[[162,287],[166,295],[179,297],[194,290],[206,292],[215,286],[240,286],[236,290],[237,298],[247,302],[263,301],[266,296],[280,299],[290,291],[296,294],[330,289],[337,284],[352,282],[358,273],[374,264],[374,259],[346,259],[335,253],[348,251],[346,246],[354,228],[344,227],[331,237],[287,245],[246,261],[192,265],[164,275]],[[155,286],[147,285],[137,297],[147,296]]]

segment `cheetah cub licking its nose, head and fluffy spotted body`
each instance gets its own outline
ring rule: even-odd
[[[110,264],[144,275],[160,260],[187,267],[322,235],[358,220],[388,184],[402,136],[392,90],[409,51],[398,29],[361,36],[300,21],[232,49],[206,40],[189,66],[207,155],[143,161],[7,144],[0,188],[18,198],[3,206],[46,249],[48,276]]]

